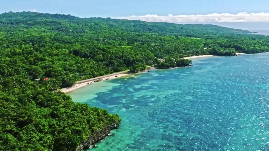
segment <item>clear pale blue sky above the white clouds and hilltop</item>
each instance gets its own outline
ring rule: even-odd
[[[0,13],[37,10],[79,17],[268,12],[269,0],[0,0]]]

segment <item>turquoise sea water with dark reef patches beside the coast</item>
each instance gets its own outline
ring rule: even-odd
[[[89,151],[267,151],[269,53],[210,57],[69,93],[119,129]]]

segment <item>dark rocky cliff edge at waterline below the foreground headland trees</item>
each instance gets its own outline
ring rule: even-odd
[[[104,129],[100,129],[94,133],[92,133],[87,140],[81,142],[81,144],[76,148],[76,151],[86,151],[87,149],[90,148],[90,146],[94,143],[97,143],[103,139],[105,139],[109,134],[112,129],[117,129],[119,123],[114,123],[112,125],[106,126]]]

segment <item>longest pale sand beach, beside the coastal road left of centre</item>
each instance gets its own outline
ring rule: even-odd
[[[110,74],[110,75],[107,75],[107,76],[96,77],[96,78],[91,78],[91,79],[87,79],[87,80],[83,80],[83,81],[78,81],[78,82],[76,82],[76,84],[74,86],[63,88],[63,89],[61,89],[61,91],[64,92],[64,93],[67,93],[67,92],[76,90],[78,88],[81,88],[83,86],[88,86],[88,85],[90,85],[91,82],[94,83],[94,81],[98,80],[98,79],[103,79],[102,81],[104,81],[105,79],[111,80],[111,79],[123,77],[123,76],[126,76],[126,75],[128,75],[128,74],[126,74],[126,73]],[[100,81],[100,82],[102,82],[102,81]],[[87,83],[89,83],[89,84],[87,84]]]

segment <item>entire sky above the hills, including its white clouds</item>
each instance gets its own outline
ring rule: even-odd
[[[0,0],[0,13],[35,11],[78,17],[269,28],[269,0]]]

